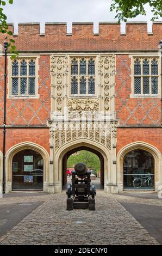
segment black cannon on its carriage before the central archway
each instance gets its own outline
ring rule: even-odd
[[[67,209],[95,210],[95,185],[91,185],[91,172],[84,163],[77,163],[72,171],[72,185],[67,185]],[[78,179],[79,178],[79,179]]]

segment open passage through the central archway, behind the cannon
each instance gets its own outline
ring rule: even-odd
[[[67,187],[71,183],[71,171],[77,162],[84,162],[91,170],[91,183],[96,188],[104,188],[104,159],[101,153],[89,147],[78,147],[68,151],[62,162],[62,186]]]

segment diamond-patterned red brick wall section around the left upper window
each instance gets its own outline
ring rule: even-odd
[[[0,125],[3,124],[4,57],[0,58]],[[39,58],[39,99],[7,99],[7,125],[46,125],[51,108],[50,57]]]

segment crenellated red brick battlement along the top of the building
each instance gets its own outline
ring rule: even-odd
[[[14,33],[13,23],[9,28]],[[93,22],[73,22],[71,34],[67,34],[66,22],[45,23],[45,34],[40,34],[40,23],[19,23],[14,39],[20,52],[158,51],[162,23],[153,22],[152,32],[147,32],[147,22],[127,22],[126,33],[120,32],[117,22],[99,22],[99,33],[94,33]],[[0,35],[1,44],[4,37]]]

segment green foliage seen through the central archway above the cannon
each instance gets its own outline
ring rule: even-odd
[[[67,168],[73,167],[76,163],[83,162],[90,169],[100,170],[100,160],[97,155],[87,150],[80,150],[68,157]]]

